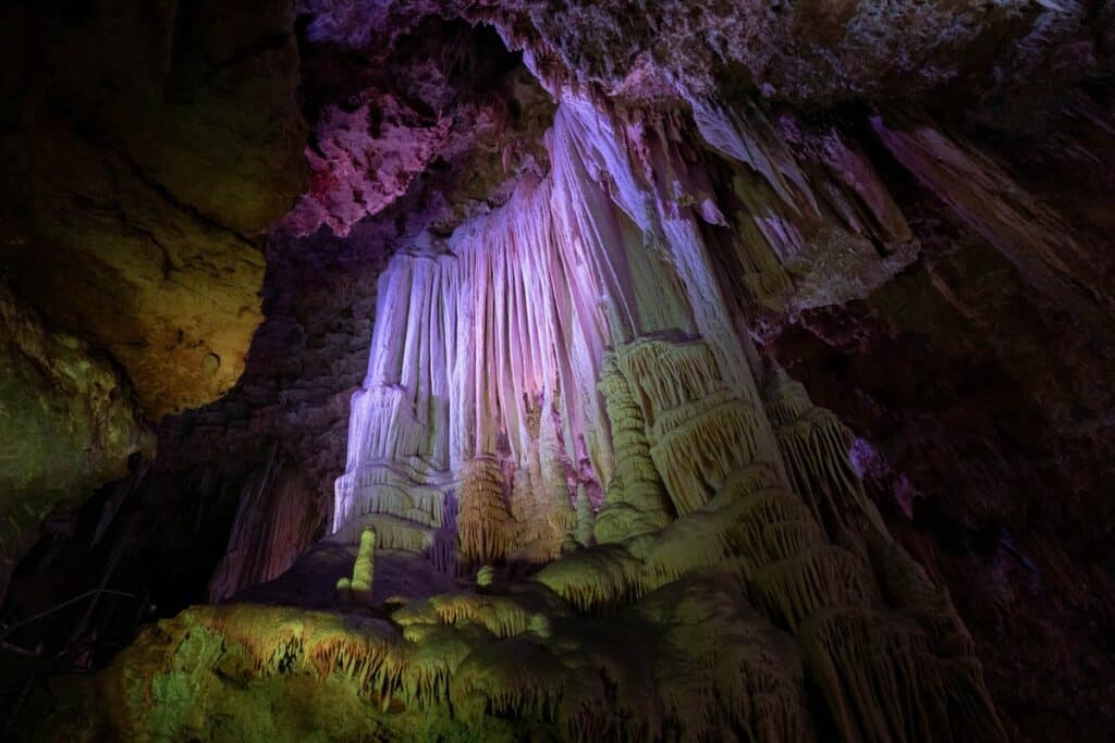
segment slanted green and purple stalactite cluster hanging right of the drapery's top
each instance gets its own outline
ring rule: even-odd
[[[864,296],[920,246],[857,147],[833,128],[765,113],[756,98],[688,95],[700,135],[731,163],[727,263],[748,304],[787,309]]]

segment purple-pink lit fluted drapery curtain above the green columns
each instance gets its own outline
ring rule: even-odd
[[[699,226],[724,219],[707,176],[678,153],[676,126],[623,121],[570,98],[549,138],[550,176],[521,184],[507,205],[444,243],[391,261],[368,377],[352,401],[334,530],[384,499],[449,487],[475,458],[529,467],[535,404],[556,411],[562,456],[579,461],[583,440],[607,485],[615,461],[598,384],[604,354],[639,339],[706,344],[716,369],[705,392],[757,410],[756,378]],[[769,422],[746,418],[754,456],[780,472]]]

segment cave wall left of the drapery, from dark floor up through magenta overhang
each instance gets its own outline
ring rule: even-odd
[[[468,29],[432,22],[417,37],[450,50],[440,67],[430,68],[427,55],[410,48],[410,38],[398,52],[377,50],[386,60],[401,56],[390,61],[395,76],[369,72],[366,61],[343,63],[328,47],[302,49],[307,116],[334,111],[321,114],[317,138],[347,137],[362,162],[379,162],[380,153],[397,145],[390,125],[367,116],[360,129],[338,128],[336,111],[356,92],[376,105],[399,96],[427,110],[419,94],[433,91],[444,101],[448,131],[430,155],[439,164],[415,173],[407,193],[385,201],[374,218],[338,227],[343,238],[321,228],[327,214],[321,205],[331,202],[317,195],[318,182],[311,180],[266,241],[263,322],[234,388],[216,402],[166,417],[148,466],[105,486],[80,509],[62,509],[43,522],[38,547],[14,577],[9,616],[52,606],[76,586],[105,581],[145,593],[159,614],[174,614],[274,577],[322,536],[331,519],[333,480],[345,469],[349,398],[367,371],[377,277],[396,242],[491,208],[510,195],[505,182],[514,183],[521,169],[544,158],[541,137],[552,104],[502,45],[484,47],[478,56],[471,51],[477,41]],[[493,38],[482,36],[488,43]],[[458,48],[459,55],[452,53]],[[460,67],[469,53],[489,72],[473,77],[467,63]],[[388,121],[392,106],[384,107]],[[506,156],[501,147],[508,148]],[[329,167],[346,172],[348,156],[341,153],[348,150],[327,149],[341,158]],[[311,144],[308,157],[312,150]],[[338,183],[333,187],[352,193],[348,182]],[[318,217],[308,223],[311,212]],[[339,225],[341,213],[329,219]],[[272,518],[272,509],[287,509],[289,518]],[[155,535],[161,536],[149,538]],[[101,610],[110,624],[114,613],[134,609]],[[60,634],[68,637],[75,622],[64,617]],[[48,625],[35,637],[51,632]]]

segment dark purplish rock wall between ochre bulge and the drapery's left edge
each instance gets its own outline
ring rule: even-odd
[[[269,256],[268,319],[236,388],[168,417],[149,465],[48,520],[46,559],[16,573],[16,614],[101,583],[146,592],[174,613],[274,577],[320,535],[343,469],[348,402],[367,365],[385,256],[377,235],[359,229],[346,243],[278,236]],[[93,624],[112,626],[134,610],[105,605]],[[75,630],[74,616],[60,622],[61,634]]]

